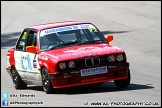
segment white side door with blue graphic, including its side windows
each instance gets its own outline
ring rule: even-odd
[[[23,80],[28,84],[41,82],[38,64],[38,54],[26,52],[27,46],[37,46],[37,32],[25,29],[20,36],[14,53],[16,69]],[[39,85],[39,84],[38,84]]]

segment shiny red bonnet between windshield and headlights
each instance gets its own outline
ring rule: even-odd
[[[43,54],[48,54],[50,57],[53,57],[58,61],[64,61],[88,57],[90,54],[93,54],[94,56],[99,56],[122,52],[122,49],[111,46],[110,44],[101,43],[58,48],[54,50],[45,51]]]

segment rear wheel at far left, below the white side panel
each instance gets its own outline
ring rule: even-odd
[[[12,79],[15,89],[25,89],[27,84],[21,79],[15,67],[12,67]]]

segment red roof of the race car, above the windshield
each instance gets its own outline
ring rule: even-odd
[[[74,25],[74,24],[85,24],[85,23],[90,23],[90,22],[85,22],[85,21],[62,21],[62,22],[53,22],[53,23],[34,25],[34,26],[31,26],[31,27],[28,27],[28,28],[35,29],[37,31],[41,31],[41,30],[48,29],[48,28],[53,28],[53,27],[61,27],[61,26],[68,26],[68,25]]]

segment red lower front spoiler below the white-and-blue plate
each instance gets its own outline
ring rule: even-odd
[[[128,68],[119,68],[117,70],[111,70],[106,74],[98,74],[98,75],[91,75],[81,77],[79,74],[74,74],[71,77],[63,78],[51,78],[51,82],[53,84],[53,88],[65,88],[71,86],[79,86],[84,84],[93,84],[99,82],[108,82],[111,80],[120,80],[127,78],[127,70]],[[120,70],[119,76],[114,77],[114,71]]]

